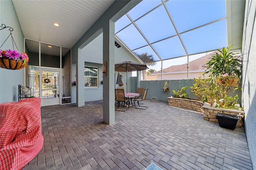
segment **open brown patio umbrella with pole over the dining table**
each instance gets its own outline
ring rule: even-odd
[[[125,61],[122,63],[115,64],[115,71],[126,72],[126,93],[127,93],[127,72],[128,71],[142,71],[148,69],[146,64],[132,63],[130,61]]]

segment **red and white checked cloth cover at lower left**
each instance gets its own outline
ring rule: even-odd
[[[0,170],[20,170],[42,149],[41,99],[0,103]]]

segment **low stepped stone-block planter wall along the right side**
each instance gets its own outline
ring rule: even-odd
[[[186,109],[192,109],[204,113],[204,120],[218,123],[216,117],[217,113],[226,113],[230,115],[244,115],[244,111],[236,109],[221,109],[217,107],[210,107],[209,103],[203,103],[202,101],[192,100],[192,99],[180,99],[174,97],[168,97],[168,105],[174,107],[182,107]],[[238,127],[244,127],[242,118],[239,118]]]

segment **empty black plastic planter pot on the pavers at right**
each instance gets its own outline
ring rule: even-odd
[[[229,115],[225,113],[217,113],[216,115],[219,125],[222,128],[228,128],[234,130],[238,125],[239,117],[236,115]]]

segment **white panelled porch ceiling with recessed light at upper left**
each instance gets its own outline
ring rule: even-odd
[[[71,48],[114,0],[12,0],[24,38]],[[53,24],[58,23],[56,27]]]

